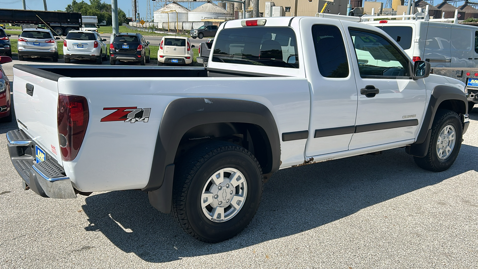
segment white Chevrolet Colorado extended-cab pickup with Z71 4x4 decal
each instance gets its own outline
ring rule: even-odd
[[[7,139],[25,185],[51,198],[141,189],[189,235],[219,242],[250,222],[278,169],[405,147],[443,171],[469,123],[462,82],[345,16],[228,21],[210,59],[15,65]]]

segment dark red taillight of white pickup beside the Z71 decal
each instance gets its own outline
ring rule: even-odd
[[[62,159],[73,160],[80,150],[88,125],[88,103],[83,96],[58,96],[58,139]]]

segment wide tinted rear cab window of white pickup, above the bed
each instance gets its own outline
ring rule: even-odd
[[[212,61],[299,68],[297,39],[290,27],[223,29],[216,37]]]

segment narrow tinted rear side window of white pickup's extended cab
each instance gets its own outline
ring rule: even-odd
[[[347,53],[337,26],[315,24],[312,26],[312,38],[320,74],[326,78],[347,78]]]

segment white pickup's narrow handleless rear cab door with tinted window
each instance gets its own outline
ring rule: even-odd
[[[333,19],[302,18],[300,23],[311,84],[305,156],[346,151],[355,130],[357,88],[345,30]]]

